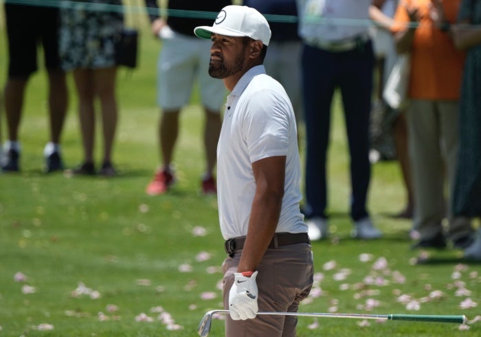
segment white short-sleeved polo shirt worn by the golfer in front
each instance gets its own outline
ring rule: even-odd
[[[277,233],[307,232],[300,213],[300,159],[293,108],[263,65],[243,75],[227,97],[217,146],[219,221],[225,240],[247,235],[256,182],[255,161],[286,156],[284,198]]]

